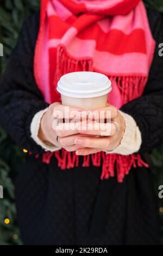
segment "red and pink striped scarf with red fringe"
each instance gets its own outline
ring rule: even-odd
[[[74,71],[100,72],[112,81],[109,104],[118,109],[142,95],[153,60],[155,41],[145,6],[140,0],[41,0],[40,30],[34,74],[47,103],[60,101],[60,76]],[[52,156],[61,169],[78,166],[75,152]],[[123,181],[132,166],[148,166],[139,154],[122,156],[99,152],[83,157],[83,166],[101,166],[101,178]]]

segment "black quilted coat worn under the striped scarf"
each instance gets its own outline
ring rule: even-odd
[[[156,40],[155,56],[143,96],[123,106],[142,134],[143,159],[163,141],[163,43],[160,14],[148,10]],[[47,104],[33,75],[39,14],[23,25],[20,39],[0,81],[0,124],[22,148],[41,154],[30,137],[30,123]],[[147,154],[148,153],[148,154]],[[82,162],[82,157],[80,157]],[[100,180],[101,168],[62,171],[53,157],[49,165],[27,156],[16,180],[16,205],[22,239],[28,245],[155,245],[158,210],[151,168],[131,169],[123,183]]]

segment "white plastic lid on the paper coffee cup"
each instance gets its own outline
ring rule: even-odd
[[[63,75],[57,91],[72,98],[94,98],[108,94],[112,90],[107,76],[96,72],[72,72]]]

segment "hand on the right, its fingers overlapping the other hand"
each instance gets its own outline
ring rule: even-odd
[[[79,133],[83,134],[83,136],[80,135],[79,138],[76,138],[75,140],[76,146],[81,146],[81,148],[76,150],[76,154],[80,156],[100,151],[115,150],[115,148],[121,144],[121,140],[125,132],[126,127],[124,118],[120,114],[120,111],[118,111],[114,106],[108,105],[106,108],[89,111],[89,115],[93,115],[92,113],[95,114],[95,121],[92,121],[91,123],[89,122],[78,128]],[[105,119],[108,118],[109,114],[109,122],[105,123],[99,121],[100,114],[104,115]],[[118,125],[114,122],[110,122],[110,119]],[[119,132],[117,132],[118,126],[120,128]]]

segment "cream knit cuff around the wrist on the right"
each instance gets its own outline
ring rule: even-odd
[[[141,132],[135,120],[130,115],[120,111],[126,122],[126,130],[123,135],[121,144],[113,151],[105,151],[106,154],[122,154],[128,156],[140,150],[142,139]]]

